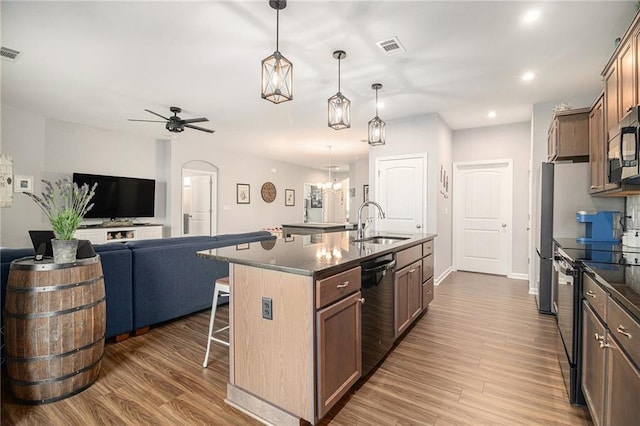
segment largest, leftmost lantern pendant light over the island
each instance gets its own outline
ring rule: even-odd
[[[293,64],[279,50],[280,10],[287,7],[287,0],[270,0],[276,10],[276,51],[262,60],[263,99],[279,104],[293,99]]]

